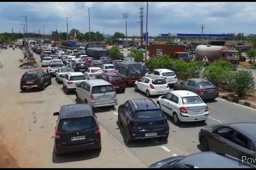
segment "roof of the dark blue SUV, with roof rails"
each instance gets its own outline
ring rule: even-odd
[[[152,99],[130,99],[135,106],[135,110],[150,110],[150,109],[160,109],[158,105]]]

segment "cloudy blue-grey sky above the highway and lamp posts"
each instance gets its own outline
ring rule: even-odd
[[[125,33],[123,13],[129,13],[127,20],[128,36],[140,34],[139,8],[144,7],[144,32],[146,26],[146,2],[0,2],[0,32],[19,32],[19,24],[27,16],[28,31],[43,33],[57,29],[66,31],[66,19],[69,30],[89,31],[88,9],[90,9],[91,31],[112,35]],[[239,33],[255,34],[256,2],[149,2],[149,36],[160,33]]]

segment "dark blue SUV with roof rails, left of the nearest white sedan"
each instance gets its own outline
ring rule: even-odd
[[[123,125],[124,141],[153,137],[168,138],[169,124],[152,99],[129,99],[118,108],[118,124]]]

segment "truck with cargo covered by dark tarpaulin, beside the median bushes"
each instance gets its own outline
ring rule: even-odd
[[[125,80],[125,84],[134,83],[147,73],[145,66],[139,62],[119,62],[117,65],[119,74]]]

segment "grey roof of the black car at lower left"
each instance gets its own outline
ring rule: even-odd
[[[70,104],[60,109],[60,119],[92,116],[92,108],[89,104]]]

